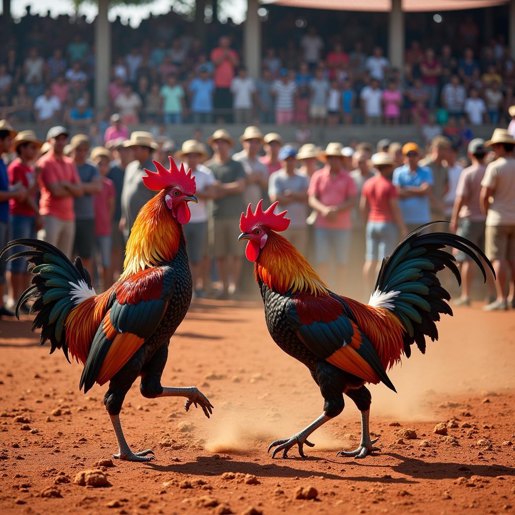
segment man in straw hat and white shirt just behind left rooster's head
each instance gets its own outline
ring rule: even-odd
[[[205,297],[203,268],[208,251],[208,200],[215,197],[216,186],[213,171],[201,163],[209,154],[199,141],[188,140],[176,153],[176,158],[185,162],[186,170],[191,168],[197,184],[198,203],[190,206],[190,221],[183,226],[188,251],[188,262],[192,271],[193,291],[197,298]]]

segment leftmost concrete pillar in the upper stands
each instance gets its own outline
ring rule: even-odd
[[[95,108],[108,105],[109,75],[111,72],[111,24],[107,19],[109,0],[98,0],[95,22]]]

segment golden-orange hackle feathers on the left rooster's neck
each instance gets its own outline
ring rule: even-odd
[[[158,193],[141,208],[127,242],[121,280],[176,256],[182,228],[167,208],[165,195]]]

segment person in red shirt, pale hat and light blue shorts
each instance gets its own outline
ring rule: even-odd
[[[388,152],[377,152],[372,157],[372,164],[379,174],[365,181],[359,201],[359,209],[367,221],[367,250],[363,265],[365,295],[372,291],[383,259],[393,252],[399,243],[399,236],[406,235],[397,202],[397,188],[391,182],[393,157]]]

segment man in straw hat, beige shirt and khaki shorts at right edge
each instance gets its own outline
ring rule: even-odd
[[[486,255],[493,264],[497,299],[486,311],[508,309],[508,284],[515,283],[515,139],[505,129],[495,129],[485,143],[495,153],[481,181],[480,206],[486,216]],[[491,202],[490,202],[490,199]],[[515,299],[511,299],[512,306]]]

